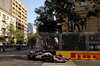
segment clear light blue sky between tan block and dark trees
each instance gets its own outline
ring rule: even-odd
[[[45,0],[19,0],[27,9],[28,9],[28,23],[33,23],[37,17],[37,14],[34,12],[35,8],[44,6]]]

